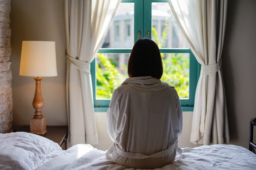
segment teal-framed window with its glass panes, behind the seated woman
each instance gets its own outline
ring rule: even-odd
[[[161,80],[175,86],[183,111],[192,111],[200,68],[167,0],[122,0],[91,63],[94,110],[107,111],[113,90],[128,78],[128,57],[139,37],[158,44],[164,66]]]

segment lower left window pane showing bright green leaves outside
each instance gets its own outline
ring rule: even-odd
[[[114,89],[128,78],[130,54],[98,53],[96,58],[96,99],[110,99]]]

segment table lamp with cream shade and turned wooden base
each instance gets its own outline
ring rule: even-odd
[[[30,119],[30,132],[45,134],[46,118],[42,115],[44,101],[41,94],[43,77],[57,76],[55,42],[23,41],[20,59],[20,75],[34,77],[36,81],[33,107],[35,114]]]

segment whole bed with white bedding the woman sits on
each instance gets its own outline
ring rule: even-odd
[[[250,125],[250,150],[230,144],[185,147],[181,155],[177,153],[173,164],[155,170],[256,169],[255,144],[252,142],[256,118]],[[57,143],[27,132],[0,134],[0,169],[133,170],[114,164],[110,155],[89,144],[62,150]]]

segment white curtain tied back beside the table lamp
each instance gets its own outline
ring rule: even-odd
[[[70,144],[98,144],[90,63],[121,0],[65,0]]]

